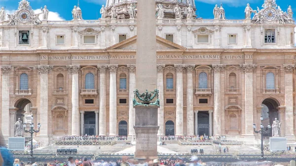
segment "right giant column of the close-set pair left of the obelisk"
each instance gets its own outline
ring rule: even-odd
[[[117,89],[116,71],[118,65],[109,65],[110,100],[109,100],[109,135],[117,135]]]

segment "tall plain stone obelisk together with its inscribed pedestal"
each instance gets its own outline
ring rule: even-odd
[[[138,0],[137,8],[136,89],[142,94],[156,89],[155,0]],[[135,106],[134,104],[134,107],[136,111],[134,126],[136,133],[135,159],[157,158],[158,106],[153,104]]]

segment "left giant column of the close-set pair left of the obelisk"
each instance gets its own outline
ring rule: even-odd
[[[107,65],[98,66],[100,69],[100,112],[99,112],[99,135],[106,135],[106,69]]]

